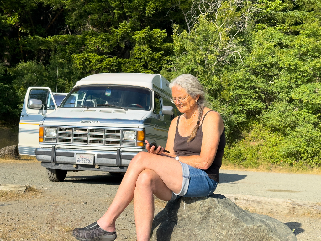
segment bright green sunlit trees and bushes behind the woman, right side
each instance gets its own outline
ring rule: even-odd
[[[226,160],[320,166],[319,3],[261,3],[252,24],[239,32],[235,22],[244,18],[239,12],[247,12],[240,8],[230,16],[229,28],[217,27],[222,25],[216,19],[226,20],[220,11],[200,17],[190,32],[176,26],[175,55],[162,74],[192,73],[202,81],[225,121]]]

